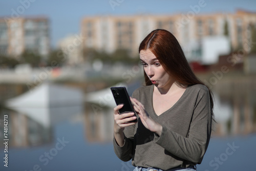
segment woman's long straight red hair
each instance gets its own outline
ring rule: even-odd
[[[181,46],[176,37],[167,30],[156,29],[148,34],[139,46],[139,53],[141,50],[149,49],[159,60],[165,71],[175,78],[178,86],[188,87],[193,84],[203,84],[194,72],[191,70],[187,59],[181,49]],[[152,84],[144,71],[144,79],[146,86]],[[205,85],[206,86],[206,85]],[[209,88],[208,88],[209,90]],[[214,102],[212,100],[212,93],[209,90],[211,115],[213,114]]]

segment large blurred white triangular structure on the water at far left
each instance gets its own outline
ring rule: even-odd
[[[27,115],[45,127],[49,127],[53,122],[52,111],[61,110],[61,116],[67,116],[68,114],[65,114],[67,110],[62,110],[63,108],[80,106],[82,102],[83,94],[80,90],[45,83],[18,97],[7,100],[6,106]],[[77,110],[75,109],[75,111]]]

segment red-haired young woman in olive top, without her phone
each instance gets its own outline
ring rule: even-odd
[[[175,36],[162,29],[139,47],[146,86],[134,91],[133,113],[114,108],[114,151],[134,170],[196,170],[206,152],[213,118],[208,88],[190,69]]]

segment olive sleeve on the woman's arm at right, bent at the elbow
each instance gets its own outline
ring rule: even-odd
[[[201,163],[211,134],[211,109],[208,91],[200,91],[187,137],[163,126],[161,136],[155,135],[154,142],[175,156]]]

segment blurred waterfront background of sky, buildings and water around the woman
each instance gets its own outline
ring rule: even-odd
[[[133,170],[113,151],[110,87],[132,95],[143,85],[138,46],[157,28],[214,92],[217,123],[198,170],[256,170],[249,0],[1,1],[0,170]]]

